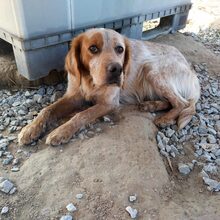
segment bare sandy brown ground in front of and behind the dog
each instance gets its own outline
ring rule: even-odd
[[[177,33],[153,41],[176,46],[190,63],[205,62],[219,77],[220,56],[192,37]],[[142,220],[220,219],[220,196],[207,191],[198,171],[183,177],[177,171],[178,158],[172,160],[173,172],[163,161],[151,116],[130,109],[120,114],[115,126],[102,124],[103,132],[91,139],[58,148],[43,143],[26,147],[35,153],[17,173],[0,165],[0,176],[18,187],[14,195],[0,193],[0,207],[10,209],[0,219],[59,219],[67,213],[65,206],[70,202],[78,209],[74,219],[80,220],[130,219],[125,211],[128,205],[138,209]],[[12,147],[18,149],[17,145]],[[185,152],[181,160],[193,158],[190,144]],[[77,193],[84,197],[77,200]],[[134,204],[128,201],[132,194],[137,194]]]

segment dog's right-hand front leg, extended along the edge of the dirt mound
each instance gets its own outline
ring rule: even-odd
[[[55,146],[69,142],[75,132],[78,131],[82,126],[87,125],[95,121],[97,118],[108,114],[113,109],[113,105],[96,104],[85,111],[77,113],[68,122],[52,131],[46,139],[46,144]]]

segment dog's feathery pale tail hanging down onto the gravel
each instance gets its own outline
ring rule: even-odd
[[[189,104],[184,108],[177,119],[178,129],[184,128],[192,119],[192,116],[196,114],[196,101],[194,99],[188,100]]]

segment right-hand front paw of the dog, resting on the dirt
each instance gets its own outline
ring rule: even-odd
[[[65,144],[70,141],[70,139],[73,137],[73,130],[69,126],[62,125],[52,131],[46,139],[46,144],[57,146],[60,144]]]

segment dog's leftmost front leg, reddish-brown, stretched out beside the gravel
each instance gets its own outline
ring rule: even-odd
[[[18,135],[18,143],[24,145],[37,140],[50,123],[80,108],[82,103],[82,97],[79,94],[64,95],[55,103],[41,110],[33,122],[21,130]]]

